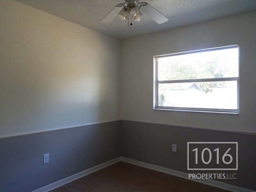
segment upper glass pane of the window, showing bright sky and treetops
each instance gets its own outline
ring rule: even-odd
[[[158,80],[238,77],[238,48],[158,58]]]

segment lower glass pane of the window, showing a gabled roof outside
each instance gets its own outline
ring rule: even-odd
[[[158,85],[159,107],[237,109],[237,81]]]

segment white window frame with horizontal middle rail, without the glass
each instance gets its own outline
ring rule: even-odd
[[[158,58],[170,57],[172,55],[185,55],[199,52],[208,52],[214,50],[224,50],[230,48],[238,48],[238,77],[229,78],[206,78],[206,79],[180,79],[180,80],[158,80]],[[208,48],[202,50],[180,52],[166,55],[154,56],[154,102],[153,109],[156,110],[169,110],[169,111],[187,111],[187,112],[203,112],[203,113],[227,113],[227,114],[239,114],[239,46],[231,45],[217,48]],[[191,83],[191,82],[217,82],[217,81],[237,81],[237,109],[209,109],[209,108],[189,108],[189,107],[164,107],[159,106],[158,103],[158,85],[163,83]]]

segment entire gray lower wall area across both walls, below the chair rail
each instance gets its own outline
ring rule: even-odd
[[[187,171],[187,142],[238,142],[238,171],[214,173],[237,173],[220,181],[256,190],[256,135],[121,120],[1,139],[0,191],[30,192],[120,156],[195,173]]]

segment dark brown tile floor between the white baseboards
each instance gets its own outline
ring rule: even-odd
[[[126,162],[67,183],[51,192],[228,192]]]

